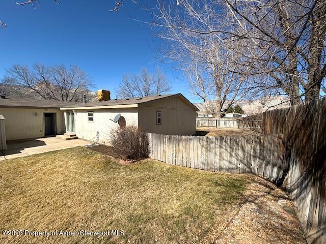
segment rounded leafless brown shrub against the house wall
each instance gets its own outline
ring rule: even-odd
[[[139,160],[149,155],[148,137],[135,126],[112,130],[111,145],[114,154],[123,160]]]

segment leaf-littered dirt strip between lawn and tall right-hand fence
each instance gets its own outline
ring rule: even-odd
[[[217,214],[215,221],[221,223],[221,219],[225,216]],[[255,176],[250,176],[242,202],[228,216],[224,229],[210,239],[221,244],[306,243],[292,201],[281,189]]]

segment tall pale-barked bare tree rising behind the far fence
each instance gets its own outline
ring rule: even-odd
[[[200,3],[199,3],[200,2]],[[174,60],[188,77],[189,90],[201,98],[213,116],[224,116],[236,100],[249,95],[238,49],[241,42],[226,42],[224,33],[214,32],[221,23],[214,1],[157,2],[149,11],[154,16],[155,34],[165,41],[161,54]],[[202,34],[201,29],[210,31]],[[211,100],[215,100],[211,109]]]

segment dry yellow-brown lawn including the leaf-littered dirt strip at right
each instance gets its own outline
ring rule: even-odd
[[[282,191],[257,177],[150,160],[120,165],[84,147],[5,160],[0,172],[2,231],[124,231],[0,235],[0,243],[305,243],[296,217],[277,205]]]

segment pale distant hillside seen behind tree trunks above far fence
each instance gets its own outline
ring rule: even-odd
[[[209,101],[208,107],[213,106],[215,101]],[[228,104],[228,102],[226,102]],[[270,98],[262,98],[253,101],[248,100],[239,100],[234,103],[233,106],[239,105],[242,107],[244,114],[253,115],[257,113],[265,112],[266,110],[275,109],[275,108],[285,108],[290,106],[290,103],[286,100],[286,98],[282,96],[275,96]],[[210,114],[207,111],[207,108],[204,103],[195,103],[195,106],[200,110],[198,112],[199,115],[208,115]]]

